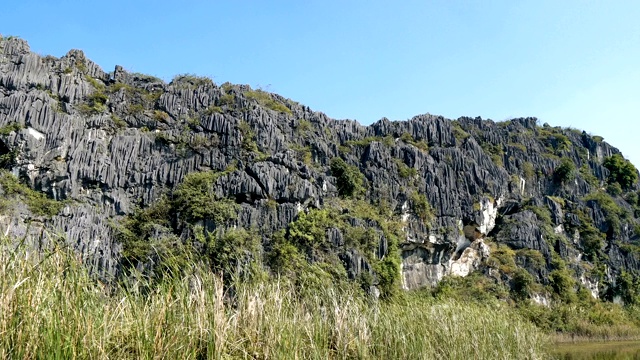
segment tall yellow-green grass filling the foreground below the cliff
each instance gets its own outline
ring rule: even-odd
[[[547,338],[506,306],[286,281],[226,291],[195,267],[153,287],[92,280],[66,251],[0,250],[0,358],[541,359]]]

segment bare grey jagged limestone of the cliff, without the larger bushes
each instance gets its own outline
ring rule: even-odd
[[[398,271],[405,288],[437,284],[451,261],[479,239],[549,258],[555,251],[549,242],[557,239],[542,230],[545,219],[524,210],[529,198],[544,199],[536,206],[549,209],[547,225],[561,226],[556,235],[566,246],[582,249],[562,229],[579,226],[576,214],[587,214],[608,234],[608,266],[640,271],[637,255],[620,249],[633,234],[609,231],[601,206],[583,201],[604,185],[608,171],[601,163],[618,150],[586,133],[539,126],[535,118],[495,123],[426,114],[362,126],[244,85],[218,86],[191,76],[167,84],[119,66],[106,73],[79,50],[41,57],[25,41],[3,38],[0,127],[11,124],[20,129],[0,134],[0,155],[14,155],[6,168],[67,203],[35,227],[26,225],[33,218],[26,209],[2,215],[1,230],[28,235],[38,246],[62,236],[104,278],[117,274],[121,251],[110,224],[152,204],[185,175],[234,168],[213,191],[239,204],[232,226],[261,229],[268,239],[301,211],[338,196],[328,167],[334,157],[364,175],[368,201],[384,201],[402,218]],[[560,158],[586,172],[558,184],[553,174]],[[421,213],[416,195],[424,195],[432,214]],[[620,226],[636,223],[630,217]],[[327,236],[344,246],[338,229]],[[381,237],[378,258],[388,253],[386,241]],[[351,278],[373,271],[357,249],[340,258]]]

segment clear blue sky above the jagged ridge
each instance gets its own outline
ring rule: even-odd
[[[0,33],[362,124],[536,116],[604,136],[640,167],[640,1],[21,0],[3,6]]]

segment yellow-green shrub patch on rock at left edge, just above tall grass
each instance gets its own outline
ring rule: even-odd
[[[29,210],[38,216],[51,217],[57,215],[64,203],[46,197],[45,194],[21,184],[18,179],[6,170],[0,170],[0,186],[4,196],[20,196],[29,207]]]

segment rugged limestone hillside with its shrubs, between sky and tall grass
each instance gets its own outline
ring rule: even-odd
[[[1,229],[70,246],[104,281],[195,253],[227,276],[383,298],[472,274],[498,297],[638,301],[638,172],[587,132],[362,126],[246,85],[105,72],[79,50],[0,52]]]

